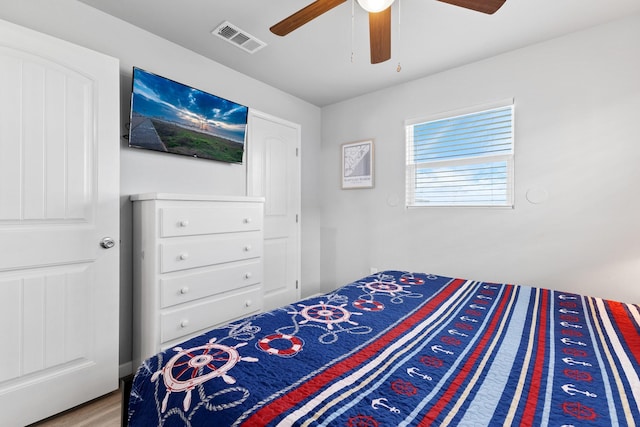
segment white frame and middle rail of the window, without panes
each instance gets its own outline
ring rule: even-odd
[[[419,163],[413,162],[414,144],[412,141],[412,130],[416,125],[437,122],[446,119],[455,119],[463,116],[469,116],[473,114],[481,114],[487,111],[511,107],[511,150],[508,153],[500,154],[480,154],[466,157],[460,157],[455,159],[435,159],[422,161]],[[511,208],[515,207],[515,102],[513,98],[503,99],[500,101],[476,105],[463,109],[457,109],[453,111],[447,111],[428,116],[421,116],[413,119],[405,120],[405,207],[406,208],[429,208],[429,207],[490,207],[490,208]],[[473,203],[466,201],[463,203],[429,203],[429,204],[416,204],[416,173],[420,168],[430,167],[456,167],[470,164],[486,164],[489,162],[506,162],[506,196],[505,203]]]

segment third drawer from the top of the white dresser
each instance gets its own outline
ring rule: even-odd
[[[160,279],[160,307],[205,298],[262,282],[259,259],[185,272]]]

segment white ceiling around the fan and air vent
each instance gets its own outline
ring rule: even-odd
[[[355,0],[285,37],[269,27],[313,0],[81,1],[318,106],[640,12],[640,0],[507,0],[494,15],[396,0],[391,60],[371,65]],[[267,46],[249,54],[213,36],[223,21]]]

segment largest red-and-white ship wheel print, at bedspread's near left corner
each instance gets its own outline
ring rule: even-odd
[[[216,338],[207,344],[189,349],[176,347],[177,352],[169,361],[151,376],[155,382],[162,375],[167,394],[162,400],[161,411],[167,410],[169,395],[173,392],[186,392],[183,401],[185,411],[191,406],[191,390],[212,378],[222,378],[227,384],[234,384],[236,379],[228,372],[238,362],[257,362],[255,357],[241,357],[238,348],[247,345],[240,343],[234,347],[216,344]]]

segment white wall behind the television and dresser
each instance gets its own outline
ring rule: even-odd
[[[129,118],[132,67],[214,93],[302,126],[302,192],[317,194],[321,111],[75,0],[5,2],[0,18],[103,52],[120,60],[122,134]],[[243,53],[241,53],[243,54]],[[121,141],[120,362],[131,361],[131,204],[144,192],[245,194],[245,167],[130,149]],[[302,289],[319,291],[319,217],[315,197],[302,199]],[[126,368],[125,368],[126,369]]]

